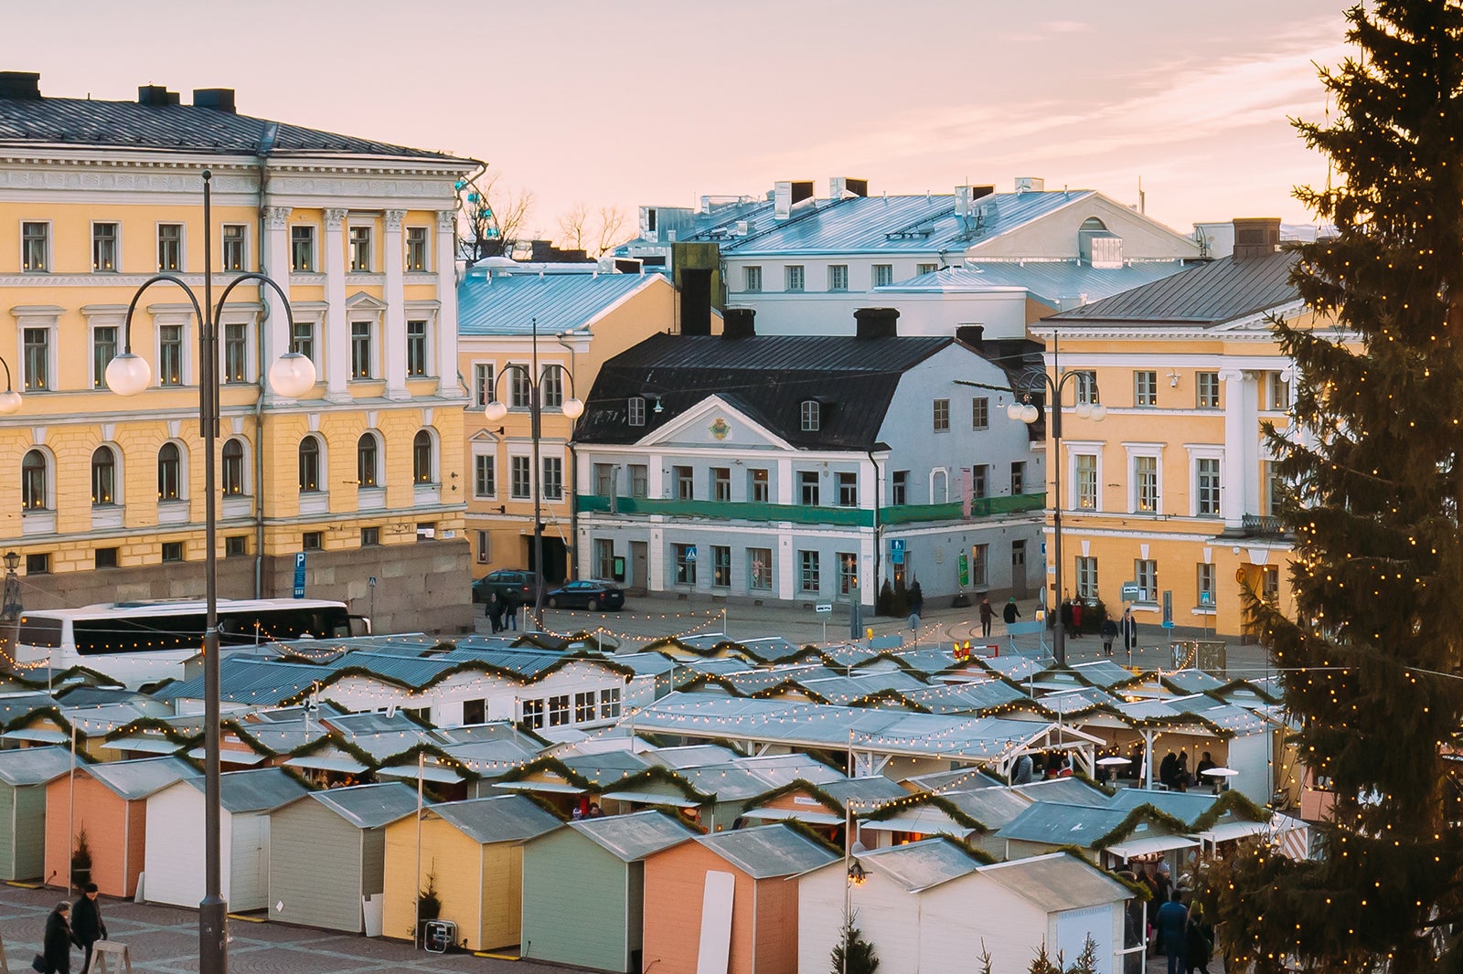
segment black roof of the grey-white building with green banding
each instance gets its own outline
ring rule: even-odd
[[[799,449],[869,450],[901,376],[952,345],[951,338],[835,335],[652,335],[604,363],[575,430],[579,443],[633,443],[710,395]],[[645,426],[629,424],[632,396],[647,402]],[[821,429],[802,430],[802,404],[822,405]]]

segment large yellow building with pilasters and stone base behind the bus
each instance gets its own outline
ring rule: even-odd
[[[0,73],[0,360],[20,408],[0,415],[0,550],[22,556],[26,608],[202,595],[199,323],[149,287],[132,350],[151,383],[105,383],[129,301],[176,273],[202,300],[202,173],[212,174],[218,320],[219,595],[347,601],[377,630],[471,624],[458,380],[455,180],[478,164],[192,104],[42,95]],[[298,399],[263,377],[298,351]]]

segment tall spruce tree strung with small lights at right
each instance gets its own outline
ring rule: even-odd
[[[1277,325],[1298,367],[1290,484],[1296,619],[1254,594],[1299,755],[1336,804],[1321,857],[1264,848],[1214,883],[1227,951],[1264,974],[1463,968],[1463,0],[1347,12],[1356,47],[1296,123],[1334,177],[1298,197],[1337,237],[1301,249],[1317,326]],[[1334,326],[1334,328],[1331,328]],[[1443,964],[1435,952],[1443,951]],[[1293,970],[1293,968],[1286,968]]]

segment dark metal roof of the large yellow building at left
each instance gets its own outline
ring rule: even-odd
[[[266,132],[278,126],[272,142]],[[440,152],[304,129],[196,105],[89,98],[0,98],[0,145],[59,143],[218,155],[328,154],[458,161]]]

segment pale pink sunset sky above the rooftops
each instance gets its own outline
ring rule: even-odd
[[[1096,189],[1195,221],[1312,222],[1314,64],[1336,0],[129,0],[6,12],[42,95],[236,88],[238,111],[481,159],[554,235],[575,203],[692,206],[775,180],[872,193]],[[631,222],[633,228],[633,222]]]

